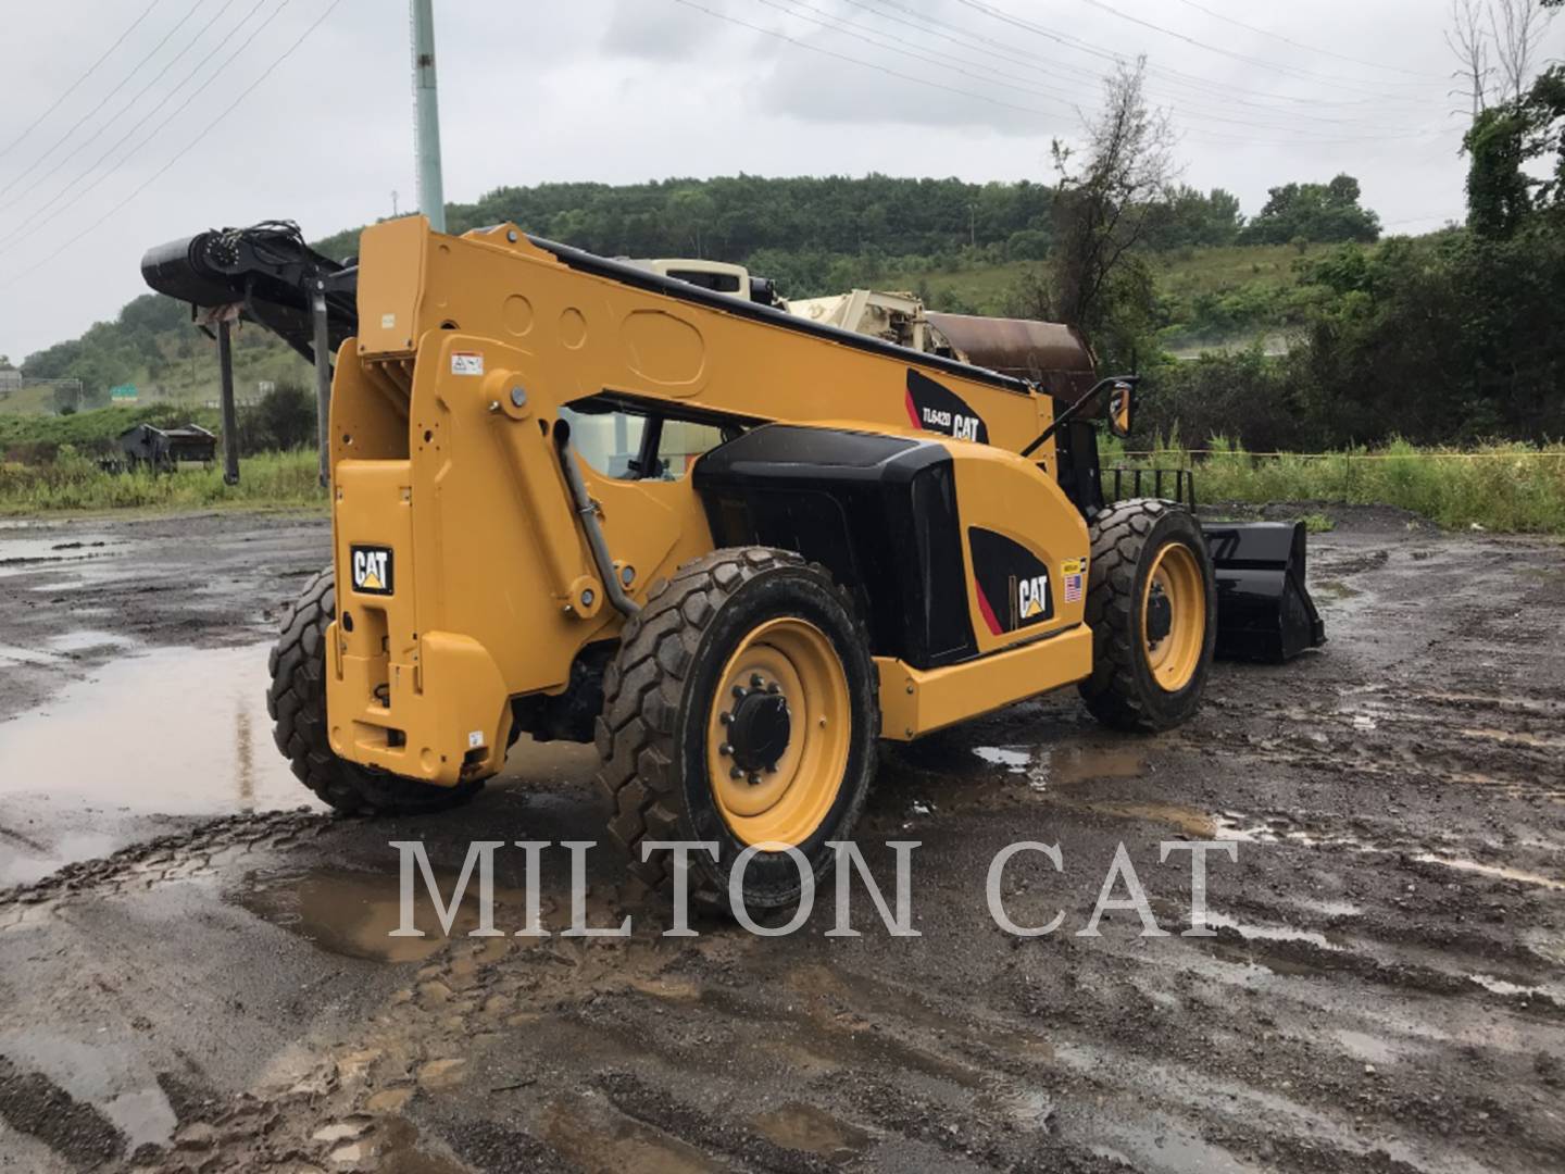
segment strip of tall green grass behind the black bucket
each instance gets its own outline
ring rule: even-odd
[[[1194,468],[1197,495],[1208,502],[1394,506],[1446,529],[1565,535],[1565,445],[1449,449],[1396,441],[1307,457],[1254,456],[1218,440],[1203,454],[1160,443],[1138,460]]]

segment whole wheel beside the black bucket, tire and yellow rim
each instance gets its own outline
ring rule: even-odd
[[[1092,520],[1086,621],[1092,676],[1080,692],[1099,722],[1157,731],[1196,712],[1218,637],[1218,589],[1189,510],[1136,498]]]

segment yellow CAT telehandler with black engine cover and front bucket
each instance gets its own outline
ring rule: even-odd
[[[829,862],[880,739],[1072,684],[1166,729],[1214,650],[1324,640],[1302,528],[1105,501],[1094,416],[1128,432],[1136,379],[1097,380],[1066,327],[931,316],[962,362],[510,224],[360,247],[268,222],[142,263],[335,366],[333,565],[269,693],[333,808],[441,808],[521,733],[595,740],[637,875],[670,880],[649,841],[709,841],[721,889],[767,845],[743,897],[786,906],[779,845]]]

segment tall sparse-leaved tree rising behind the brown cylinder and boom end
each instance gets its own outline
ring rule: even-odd
[[[1105,362],[1124,362],[1152,312],[1150,275],[1135,255],[1157,197],[1174,172],[1174,128],[1147,105],[1146,58],[1121,66],[1103,85],[1103,108],[1086,128],[1086,163],[1053,144],[1055,252],[1050,313],[1094,343]],[[1117,352],[1117,355],[1116,355]]]

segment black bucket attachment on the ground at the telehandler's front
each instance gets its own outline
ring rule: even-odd
[[[1218,574],[1218,657],[1282,664],[1326,643],[1304,582],[1302,521],[1208,523]]]

